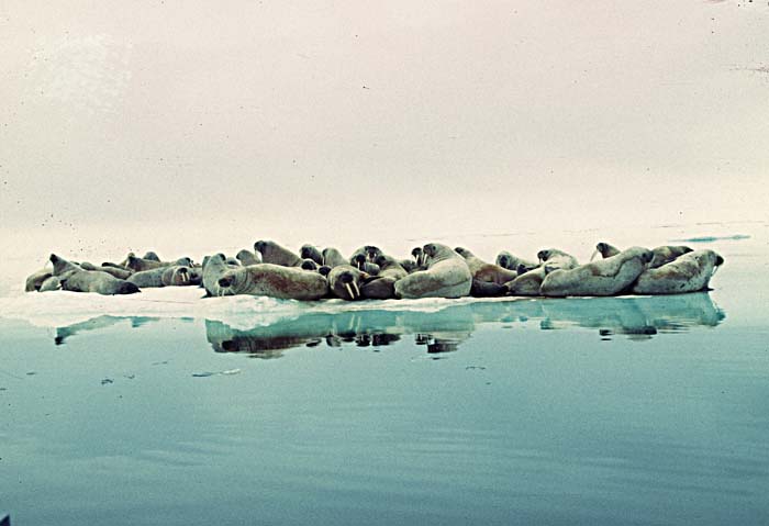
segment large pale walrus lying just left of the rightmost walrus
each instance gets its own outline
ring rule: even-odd
[[[539,293],[546,296],[615,295],[627,290],[646,270],[654,254],[648,248],[632,247],[616,256],[582,265],[575,269],[549,270]]]

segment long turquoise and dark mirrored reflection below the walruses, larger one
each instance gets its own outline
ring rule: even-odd
[[[355,345],[383,347],[413,335],[428,354],[455,351],[477,324],[538,324],[542,329],[587,327],[601,339],[621,334],[650,339],[658,333],[715,326],[724,313],[707,293],[653,298],[598,298],[481,302],[446,307],[439,312],[356,311],[311,313],[269,326],[243,331],[222,322],[205,322],[207,337],[216,352],[246,352],[275,358],[297,347]]]

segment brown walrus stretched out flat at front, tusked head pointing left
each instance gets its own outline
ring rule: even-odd
[[[320,273],[274,264],[226,270],[216,283],[219,295],[249,294],[312,301],[328,292],[328,281]]]

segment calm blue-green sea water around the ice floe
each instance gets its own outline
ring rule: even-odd
[[[639,233],[724,256],[714,290],[675,296],[9,293],[0,515],[766,524],[768,231]]]

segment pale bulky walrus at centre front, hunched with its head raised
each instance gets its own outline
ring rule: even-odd
[[[417,270],[395,281],[397,298],[461,298],[470,293],[472,275],[460,255],[446,245],[423,247],[427,270]]]

